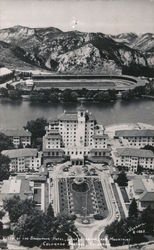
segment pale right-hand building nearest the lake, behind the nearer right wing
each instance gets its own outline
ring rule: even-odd
[[[115,138],[119,138],[125,147],[141,148],[145,145],[154,146],[154,130],[150,129],[117,130]]]

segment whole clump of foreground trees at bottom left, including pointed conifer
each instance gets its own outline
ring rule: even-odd
[[[21,245],[34,247],[41,246],[44,242],[49,244],[64,242],[67,247],[69,236],[77,241],[78,232],[73,216],[55,217],[51,204],[47,212],[43,213],[35,208],[32,200],[22,201],[14,196],[4,201],[4,207],[9,212],[10,221],[14,223],[14,236]]]

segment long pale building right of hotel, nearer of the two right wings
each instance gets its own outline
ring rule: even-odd
[[[123,166],[131,171],[137,171],[137,167],[154,169],[154,153],[151,150],[137,148],[117,148],[113,152],[115,166]]]

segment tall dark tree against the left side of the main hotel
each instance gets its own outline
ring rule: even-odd
[[[36,120],[28,121],[24,129],[31,132],[32,147],[42,145],[42,137],[45,135],[45,126],[47,126],[47,120],[44,118],[37,118]]]

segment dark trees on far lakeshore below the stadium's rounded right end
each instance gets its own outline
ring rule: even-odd
[[[131,90],[126,90],[122,93],[122,100],[131,101],[142,96],[154,96],[154,87],[152,83],[147,83],[145,86],[138,86]]]

